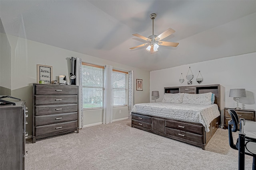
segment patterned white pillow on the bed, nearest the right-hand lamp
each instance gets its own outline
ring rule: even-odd
[[[212,104],[212,93],[184,94],[183,104]]]

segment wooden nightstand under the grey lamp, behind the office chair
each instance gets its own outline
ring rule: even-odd
[[[224,108],[224,128],[228,128],[228,121],[231,120],[230,114],[228,113],[228,109],[232,108]],[[254,109],[234,109],[238,115],[238,118],[243,118],[250,121],[255,121],[255,110]],[[238,129],[240,124],[238,124]]]

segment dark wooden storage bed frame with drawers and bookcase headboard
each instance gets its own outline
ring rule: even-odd
[[[219,110],[224,108],[224,88],[220,84],[204,85],[204,86],[179,86],[165,87],[164,93],[191,93],[202,94],[212,92],[215,94],[215,104]],[[223,94],[223,97],[222,97]],[[206,144],[216,132],[220,125],[220,116],[210,123],[210,131],[206,132],[201,123],[189,121],[181,121],[166,117],[158,117],[146,115],[144,113],[132,112],[132,127],[149,131],[164,137],[176,139],[185,143],[189,143],[205,150]]]

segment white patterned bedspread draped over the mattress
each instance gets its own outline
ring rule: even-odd
[[[211,121],[220,115],[216,104],[198,105],[165,102],[135,104],[132,112],[201,123],[206,132],[210,131]]]

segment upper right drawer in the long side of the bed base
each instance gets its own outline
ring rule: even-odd
[[[198,126],[198,125],[193,125],[193,124],[188,124],[188,123],[181,123],[178,121],[165,121],[166,122],[166,127],[172,128],[172,129],[178,129],[181,131],[186,131],[186,132],[191,132],[191,133],[196,133],[199,135],[202,135],[203,133],[203,126]]]

